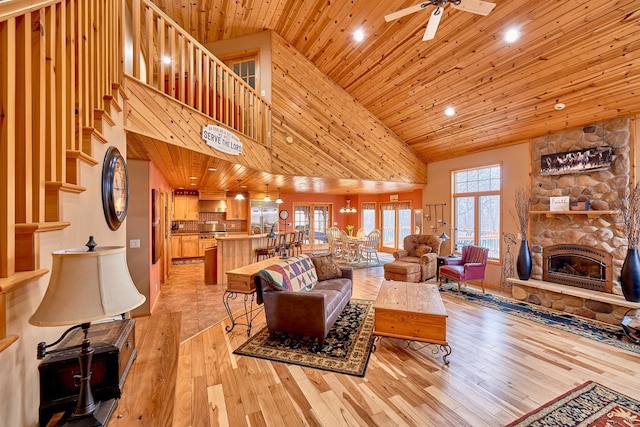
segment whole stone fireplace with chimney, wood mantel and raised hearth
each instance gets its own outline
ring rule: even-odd
[[[622,297],[619,281],[627,239],[618,211],[629,195],[630,135],[631,120],[621,118],[531,141],[533,268],[529,281],[510,279],[514,298],[613,324],[636,307]],[[612,147],[606,170],[541,174],[543,155],[602,146]],[[591,210],[550,212],[558,196],[589,200]]]

